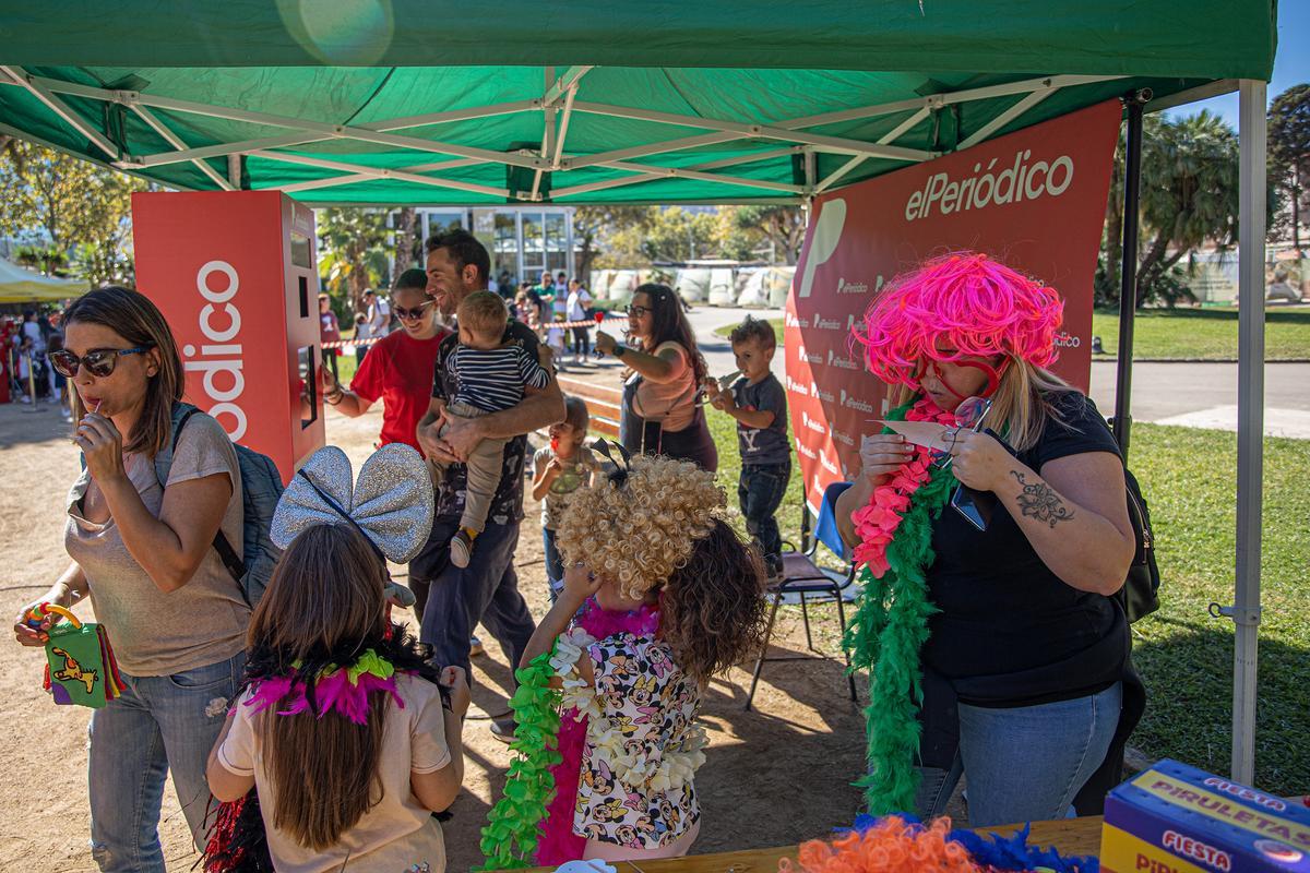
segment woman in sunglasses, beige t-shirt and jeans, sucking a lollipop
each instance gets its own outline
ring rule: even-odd
[[[73,442],[85,467],[68,497],[72,563],[14,620],[24,645],[45,645],[31,615],[89,597],[126,688],[90,719],[90,847],[101,870],[162,873],[157,832],[165,776],[203,844],[208,749],[241,685],[250,619],[212,543],[242,537],[241,470],[221,425],[195,414],[174,441],[183,370],[145,296],[100,288],[68,308],[51,363],[72,383]],[[176,446],[166,480],[155,455]],[[240,551],[240,548],[238,548]]]

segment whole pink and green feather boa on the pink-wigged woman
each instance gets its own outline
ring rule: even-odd
[[[955,424],[954,414],[927,398],[896,407],[887,418]],[[888,484],[874,490],[867,507],[852,514],[863,541],[855,547],[863,597],[845,645],[852,668],[869,670],[869,772],[855,784],[865,789],[874,815],[914,808],[922,703],[918,656],[927,640],[927,618],[937,611],[925,573],[934,559],[933,522],[954,486],[950,467],[934,466],[929,450],[920,448]]]

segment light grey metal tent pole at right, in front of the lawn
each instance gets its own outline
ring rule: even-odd
[[[1233,780],[1255,781],[1256,656],[1260,633],[1260,508],[1264,470],[1264,233],[1268,85],[1243,79],[1238,212],[1237,580],[1227,613],[1233,649]]]

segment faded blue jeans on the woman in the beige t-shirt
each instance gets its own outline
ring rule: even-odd
[[[204,764],[241,686],[245,652],[173,675],[123,674],[90,717],[90,853],[105,873],[164,873],[160,805],[173,787],[196,848],[212,797]]]

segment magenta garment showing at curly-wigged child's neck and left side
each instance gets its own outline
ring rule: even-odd
[[[659,632],[659,609],[643,605],[633,613],[610,613],[600,609],[595,599],[590,599],[575,624],[597,640],[618,633],[651,636]],[[579,719],[578,711],[570,708],[559,720],[561,760],[550,768],[550,775],[555,780],[555,796],[546,806],[546,818],[541,823],[537,864],[558,865],[576,861],[587,848],[587,838],[574,834],[572,830],[586,746],[587,717]]]

